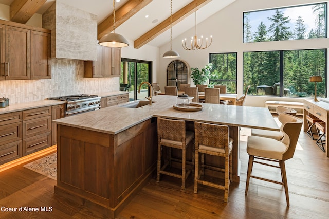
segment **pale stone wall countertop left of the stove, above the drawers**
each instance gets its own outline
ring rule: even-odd
[[[0,108],[0,114],[12,113],[17,111],[23,111],[26,109],[44,107],[44,106],[54,106],[64,103],[65,102],[58,100],[39,100],[39,101],[16,103],[16,104],[9,103],[9,106],[6,106],[5,108]]]

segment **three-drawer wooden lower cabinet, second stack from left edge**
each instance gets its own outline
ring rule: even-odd
[[[51,106],[23,111],[23,156],[51,146]]]

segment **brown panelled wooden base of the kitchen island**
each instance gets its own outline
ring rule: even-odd
[[[156,120],[116,135],[58,125],[55,193],[114,218],[156,168]]]

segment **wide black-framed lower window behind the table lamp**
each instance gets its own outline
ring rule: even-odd
[[[321,76],[317,95],[326,97],[326,49],[260,51],[243,53],[243,83],[249,94],[312,97],[310,76]]]

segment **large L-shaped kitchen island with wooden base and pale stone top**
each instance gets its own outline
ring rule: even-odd
[[[151,106],[132,102],[55,120],[58,181],[55,193],[115,215],[156,168],[156,117],[224,124],[233,143],[233,181],[239,182],[239,127],[279,130],[267,108],[202,104],[202,111],[173,108],[176,96],[158,95]],[[193,125],[191,125],[193,129]]]

